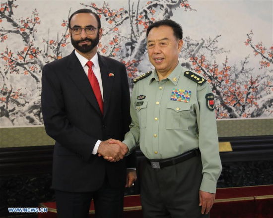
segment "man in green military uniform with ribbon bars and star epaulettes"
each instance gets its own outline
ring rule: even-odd
[[[145,218],[208,217],[221,173],[214,96],[202,75],[178,62],[182,46],[179,24],[151,24],[147,48],[155,69],[136,78],[132,93],[123,143],[129,153],[139,144],[147,159],[140,189]]]

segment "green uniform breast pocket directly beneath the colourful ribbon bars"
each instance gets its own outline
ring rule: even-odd
[[[191,104],[168,102],[166,108],[166,129],[188,130]]]

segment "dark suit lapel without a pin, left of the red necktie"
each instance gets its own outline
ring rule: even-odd
[[[101,114],[97,99],[89,83],[89,80],[73,51],[68,58],[68,76],[76,84],[81,93],[90,102],[90,104]]]

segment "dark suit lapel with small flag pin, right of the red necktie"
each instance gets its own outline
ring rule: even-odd
[[[115,72],[109,68],[103,56],[98,54],[98,60],[100,65],[100,73],[103,87],[103,116],[105,117],[105,114],[107,113],[110,107],[110,99],[115,79],[114,76]]]

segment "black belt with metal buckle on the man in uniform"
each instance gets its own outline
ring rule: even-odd
[[[178,155],[176,157],[173,158],[167,158],[167,159],[147,159],[147,163],[149,163],[152,168],[154,169],[161,169],[164,168],[166,166],[171,166],[171,165],[175,165],[177,163],[181,163],[184,161],[189,160],[190,158],[193,158],[195,156],[198,156],[200,154],[200,150],[199,149],[194,149],[191,151],[188,151],[182,155]]]

